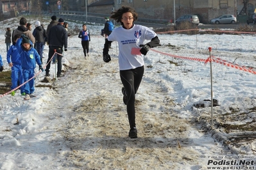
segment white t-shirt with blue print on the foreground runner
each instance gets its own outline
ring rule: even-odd
[[[115,28],[108,36],[108,41],[118,42],[119,45],[119,70],[130,70],[144,65],[143,55],[131,54],[132,48],[140,49],[139,45],[144,40],[151,40],[157,34],[148,27],[134,25],[131,29],[122,26]]]

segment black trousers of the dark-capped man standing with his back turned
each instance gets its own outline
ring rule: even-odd
[[[59,54],[62,54],[63,52],[62,47],[49,45],[49,53],[48,53],[48,59],[47,59],[48,65],[46,66],[46,73],[49,73],[49,70],[51,68],[51,62],[49,61],[51,61],[53,54],[55,54],[55,49],[56,49],[56,52],[58,52]],[[57,75],[60,75],[60,73],[62,72],[62,56],[60,56],[59,54],[56,54],[58,59]]]

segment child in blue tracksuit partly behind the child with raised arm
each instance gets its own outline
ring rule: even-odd
[[[21,35],[15,35],[14,36],[14,42],[17,42],[17,40],[21,37]],[[19,55],[19,52],[15,45],[11,45],[10,49],[7,52],[6,55],[7,62],[9,66],[12,68],[12,86],[11,89],[17,88],[20,84],[22,84],[23,77],[22,77],[22,69],[21,69],[21,56]],[[26,95],[24,93],[24,86],[21,86],[21,95]],[[12,91],[12,96],[15,95],[15,91]]]

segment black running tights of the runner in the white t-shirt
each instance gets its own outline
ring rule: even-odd
[[[130,128],[136,127],[135,123],[135,94],[139,89],[144,74],[144,66],[131,69],[120,70],[120,77],[127,95],[127,114]]]

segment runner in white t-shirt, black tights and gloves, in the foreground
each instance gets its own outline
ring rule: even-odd
[[[117,41],[119,45],[119,70],[123,88],[123,102],[126,104],[128,120],[130,123],[130,138],[137,138],[135,124],[135,94],[139,89],[144,74],[144,56],[148,50],[157,47],[160,43],[157,34],[145,26],[135,25],[138,14],[130,6],[122,6],[116,12],[112,12],[110,18],[121,22],[108,36],[108,43]],[[144,40],[151,42],[143,45]],[[103,61],[111,61],[108,54],[108,43],[103,49]]]

